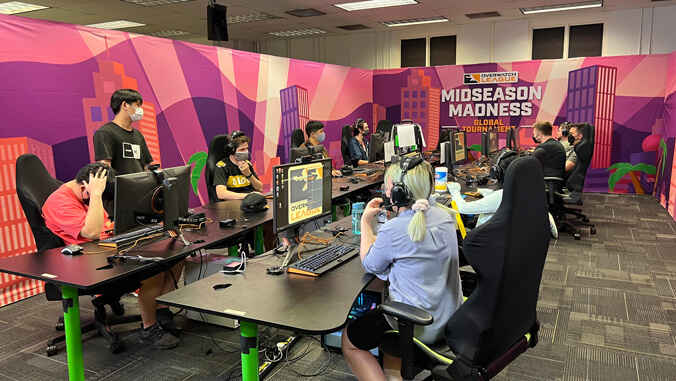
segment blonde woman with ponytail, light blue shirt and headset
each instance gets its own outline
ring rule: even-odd
[[[402,178],[402,166],[407,166]],[[401,184],[397,184],[403,181]],[[421,159],[392,165],[385,173],[386,204],[397,217],[373,234],[371,220],[383,200],[371,200],[361,220],[361,260],[364,269],[389,280],[389,300],[429,312],[434,323],[416,327],[415,337],[431,344],[443,338],[444,326],[462,303],[458,241],[454,211],[430,202],[434,170]],[[397,187],[394,196],[393,188]],[[404,193],[400,191],[404,190]],[[405,197],[400,197],[405,194]],[[390,201],[390,199],[394,199]],[[384,380],[378,361],[369,352],[392,326],[377,309],[351,322],[342,335],[345,360],[359,380]]]

